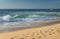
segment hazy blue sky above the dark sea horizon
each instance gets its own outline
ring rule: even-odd
[[[60,9],[60,0],[0,0],[0,9]]]

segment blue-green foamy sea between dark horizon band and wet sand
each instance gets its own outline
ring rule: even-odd
[[[0,11],[0,26],[26,24],[58,18],[60,18],[60,12],[2,10]]]

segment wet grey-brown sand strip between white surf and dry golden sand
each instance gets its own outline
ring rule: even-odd
[[[58,23],[60,23],[60,19],[37,21],[37,22],[27,23],[27,25],[23,25],[23,26],[21,25],[12,26],[11,25],[11,27],[7,27],[7,28],[0,27],[0,33],[12,32],[16,30],[23,30],[23,29],[29,29],[29,28],[50,26],[50,25],[58,24]]]

